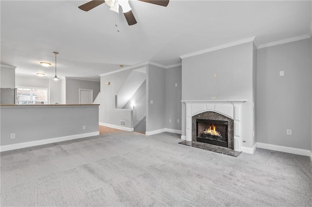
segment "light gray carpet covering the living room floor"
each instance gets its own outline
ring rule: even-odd
[[[1,153],[6,206],[310,206],[307,156],[222,155],[114,132]]]

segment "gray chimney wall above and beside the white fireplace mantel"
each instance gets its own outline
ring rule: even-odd
[[[242,143],[253,147],[253,43],[182,59],[182,100],[246,99],[242,105]],[[216,78],[213,74],[216,73]],[[185,106],[182,107],[185,135]]]

